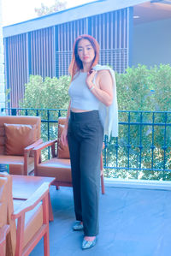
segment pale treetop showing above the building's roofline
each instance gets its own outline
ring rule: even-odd
[[[40,8],[35,8],[35,12],[37,13],[38,17],[43,15],[50,15],[52,13],[56,13],[57,11],[61,11],[62,9],[66,9],[67,2],[63,2],[60,0],[55,0],[55,3],[48,7],[44,5],[44,3],[41,3]]]

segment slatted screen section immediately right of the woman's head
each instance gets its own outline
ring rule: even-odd
[[[119,73],[128,66],[128,15],[128,9],[121,9],[89,18],[89,34],[97,39],[101,49],[99,63],[109,64]]]

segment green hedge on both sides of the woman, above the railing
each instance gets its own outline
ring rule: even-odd
[[[31,75],[25,85],[24,108],[67,109],[69,76],[59,79]],[[171,67],[160,65],[147,68],[127,68],[125,74],[116,73],[119,110],[171,110]]]

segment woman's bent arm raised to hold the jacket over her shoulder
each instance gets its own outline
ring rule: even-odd
[[[86,84],[94,94],[103,104],[109,106],[113,101],[113,80],[109,70],[101,70],[97,74],[97,84],[95,86],[92,82],[97,71],[93,70],[91,74],[87,75]]]

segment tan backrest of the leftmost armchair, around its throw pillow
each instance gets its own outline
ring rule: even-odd
[[[0,155],[5,154],[4,123],[35,125],[36,140],[40,139],[41,119],[39,116],[0,116]]]

